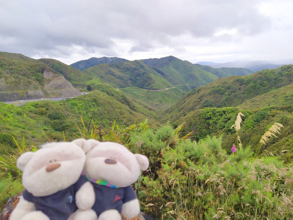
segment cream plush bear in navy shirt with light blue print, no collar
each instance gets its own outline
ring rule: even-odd
[[[81,172],[91,141],[47,143],[20,156],[25,190],[10,220],[97,219],[93,186]],[[77,210],[79,208],[79,210]]]

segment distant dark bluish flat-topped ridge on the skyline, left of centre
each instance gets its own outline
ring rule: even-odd
[[[92,57],[88,60],[80,60],[78,62],[72,63],[70,66],[76,68],[77,70],[85,70],[89,67],[96,66],[101,63],[117,63],[117,62],[127,62],[129,60],[119,58],[119,57]]]

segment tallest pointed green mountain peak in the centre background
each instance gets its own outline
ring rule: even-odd
[[[161,70],[161,75],[168,75],[173,85],[190,84],[195,88],[208,84],[218,78],[211,72],[202,70],[191,62],[183,61],[173,56],[141,61],[153,67],[155,70]]]

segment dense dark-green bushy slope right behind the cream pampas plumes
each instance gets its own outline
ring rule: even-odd
[[[277,135],[278,138],[270,138],[270,142],[262,146],[261,152],[267,150],[275,155],[280,155],[280,151],[288,150],[282,155],[282,159],[290,162],[293,160],[292,111],[293,105],[266,107],[256,111],[235,107],[197,109],[176,120],[173,127],[186,122],[182,135],[194,130],[195,133],[192,138],[197,141],[207,135],[219,136],[223,134],[222,147],[229,152],[233,143],[237,143],[235,130],[234,128],[231,129],[231,126],[234,124],[238,112],[245,115],[245,117],[242,117],[243,123],[239,131],[241,142],[245,147],[251,145],[253,151],[258,150],[261,136],[273,123],[282,123],[284,128]]]

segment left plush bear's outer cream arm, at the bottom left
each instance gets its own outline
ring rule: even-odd
[[[19,220],[31,211],[35,211],[35,205],[32,202],[26,201],[23,196],[21,196],[9,220]]]

